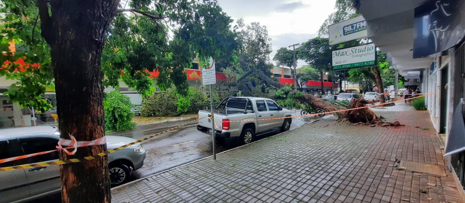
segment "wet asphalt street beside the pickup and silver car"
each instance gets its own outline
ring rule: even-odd
[[[300,111],[292,111],[292,115],[300,114]],[[317,117],[320,118],[320,117]],[[315,118],[297,117],[292,119],[291,129],[303,126]],[[140,140],[155,133],[162,132],[172,127],[179,126],[191,120],[172,121],[157,124],[139,124],[133,130],[107,133],[107,135],[125,136]],[[143,141],[142,146],[146,149],[144,166],[133,171],[132,179],[146,177],[160,171],[183,165],[188,162],[201,159],[213,154],[212,136],[201,133],[196,128],[197,122],[180,127],[176,130],[163,133],[149,140]],[[279,133],[279,131],[257,136],[256,140]],[[239,146],[239,141],[224,143],[222,140],[216,142],[216,153]]]

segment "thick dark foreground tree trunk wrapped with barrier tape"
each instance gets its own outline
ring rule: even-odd
[[[91,141],[105,136],[100,57],[119,0],[39,0],[42,36],[52,49],[61,138]],[[51,15],[49,15],[50,7]],[[106,145],[60,151],[60,159],[83,158]],[[62,203],[110,203],[107,157],[60,165]]]

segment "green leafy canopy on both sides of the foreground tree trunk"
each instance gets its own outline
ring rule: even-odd
[[[160,89],[174,85],[180,95],[186,95],[189,85],[184,69],[192,66],[194,57],[205,63],[209,57],[221,56],[226,56],[228,62],[237,61],[234,53],[241,45],[239,27],[232,26],[233,19],[216,1],[151,3],[150,0],[134,0],[130,8],[119,5],[116,10],[101,54],[105,87],[118,87],[121,80],[147,95],[153,90],[153,80],[148,76],[158,71]],[[45,2],[47,4],[54,6],[53,2]],[[9,100],[21,106],[43,109],[50,107],[40,95],[46,88],[54,89],[50,44],[66,37],[44,38],[52,35],[42,29],[46,23],[37,5],[34,0],[2,2],[0,13],[6,14],[5,22],[0,25],[0,34],[4,36],[0,44],[4,54],[0,55],[0,61],[7,63],[2,65],[0,76],[17,80],[4,93]],[[53,9],[50,12],[53,15]],[[267,39],[260,40],[258,43]],[[20,48],[10,51],[9,42],[15,42]]]

